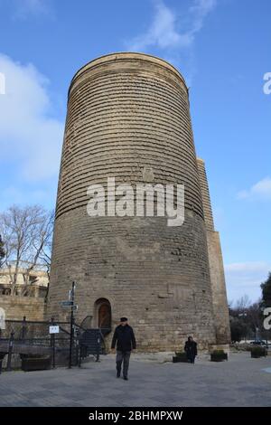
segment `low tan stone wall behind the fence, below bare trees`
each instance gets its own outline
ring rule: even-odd
[[[0,308],[5,310],[5,319],[44,320],[44,300],[34,297],[0,297]]]

